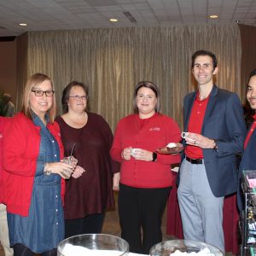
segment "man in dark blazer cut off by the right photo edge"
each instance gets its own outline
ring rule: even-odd
[[[247,84],[247,102],[250,107],[256,111],[256,69],[254,69],[249,75],[249,81]],[[247,137],[244,143],[244,153],[241,157],[239,177],[242,175],[242,171],[256,170],[255,160],[255,145],[256,145],[256,113],[253,115],[253,122],[249,125],[247,131]],[[239,193],[237,195],[238,207],[240,210],[243,208],[241,201],[241,180],[239,182]]]

